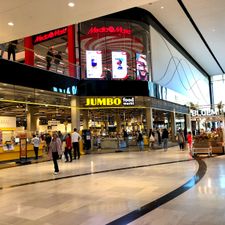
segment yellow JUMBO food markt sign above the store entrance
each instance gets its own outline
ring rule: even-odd
[[[131,106],[134,105],[134,97],[121,98],[86,98],[85,106]]]

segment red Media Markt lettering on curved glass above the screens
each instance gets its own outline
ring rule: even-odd
[[[113,27],[91,27],[88,34],[98,34],[98,33],[121,33],[121,34],[131,34],[130,29],[124,29],[121,26]]]

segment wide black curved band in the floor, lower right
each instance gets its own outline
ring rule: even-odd
[[[175,189],[174,191],[169,192],[168,194],[162,196],[161,198],[150,202],[139,209],[134,210],[133,212],[128,213],[127,215],[124,215],[107,225],[125,225],[128,223],[131,223],[132,221],[140,218],[141,216],[145,215],[146,213],[151,212],[152,210],[158,208],[159,206],[169,202],[170,200],[176,198],[177,196],[183,194],[185,191],[189,190],[193,186],[195,186],[205,175],[207,166],[206,163],[201,160],[200,158],[196,158],[199,168],[197,173],[185,184],[183,184],[181,187]]]

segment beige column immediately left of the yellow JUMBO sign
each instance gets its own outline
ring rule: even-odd
[[[73,96],[71,98],[71,130],[74,128],[80,130],[80,99],[79,97]]]

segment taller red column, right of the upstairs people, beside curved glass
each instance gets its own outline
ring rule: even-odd
[[[68,69],[69,75],[71,77],[75,77],[75,26],[70,25],[68,26]]]

